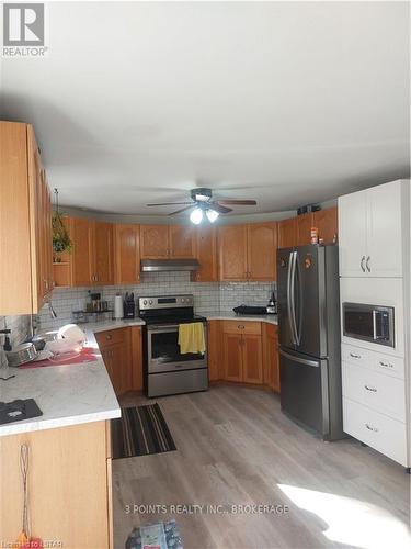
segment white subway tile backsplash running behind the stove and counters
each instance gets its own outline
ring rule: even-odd
[[[90,288],[57,288],[53,292],[53,306],[57,318],[50,318],[45,306],[38,317],[38,328],[49,329],[72,322],[72,311],[83,310]],[[199,314],[231,310],[246,303],[266,305],[275,291],[274,282],[192,282],[189,272],[144,272],[141,283],[136,287],[103,287],[95,291],[102,300],[113,302],[117,292],[134,292],[140,295],[168,295],[192,293],[195,311]],[[93,290],[92,290],[93,291]]]

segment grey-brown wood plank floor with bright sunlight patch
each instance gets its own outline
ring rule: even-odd
[[[276,395],[256,389],[128,395],[122,405],[156,401],[178,451],[113,461],[116,549],[134,526],[167,518],[176,519],[184,549],[408,547],[410,478],[370,448],[351,438],[322,442],[281,412]],[[133,513],[148,504],[167,513]],[[173,514],[178,504],[221,505],[226,513]],[[247,504],[288,513],[229,507]]]

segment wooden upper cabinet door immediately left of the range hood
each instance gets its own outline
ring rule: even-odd
[[[115,283],[140,282],[140,226],[115,225]]]

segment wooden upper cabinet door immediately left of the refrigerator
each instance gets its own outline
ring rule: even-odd
[[[277,224],[252,223],[247,225],[248,279],[276,280]]]

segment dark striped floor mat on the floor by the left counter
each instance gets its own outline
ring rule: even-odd
[[[160,406],[122,408],[122,417],[112,419],[112,450],[113,459],[176,450]]]

